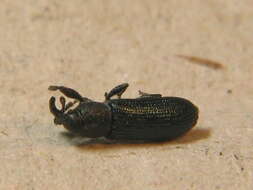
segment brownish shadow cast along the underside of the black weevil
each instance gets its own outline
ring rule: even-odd
[[[112,149],[124,147],[143,147],[143,146],[160,146],[160,145],[180,145],[190,144],[207,139],[211,136],[211,129],[194,129],[185,135],[168,141],[133,141],[133,140],[108,140],[105,138],[87,139],[77,136],[70,132],[61,132],[60,135],[67,139],[71,145],[80,149]]]

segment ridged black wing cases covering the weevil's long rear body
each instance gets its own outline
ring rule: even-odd
[[[198,108],[178,97],[114,99],[108,104],[112,112],[109,139],[169,140],[187,132],[198,119]]]

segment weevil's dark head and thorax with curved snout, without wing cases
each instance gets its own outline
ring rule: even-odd
[[[110,131],[111,112],[109,107],[99,102],[81,102],[74,110],[69,110],[74,103],[65,106],[65,98],[61,97],[62,108],[55,105],[55,97],[49,100],[50,112],[54,115],[54,123],[63,125],[72,133],[84,137],[106,136]]]

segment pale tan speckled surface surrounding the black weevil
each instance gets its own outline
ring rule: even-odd
[[[252,190],[252,8],[2,0],[0,189]],[[87,144],[54,126],[48,100],[59,93],[49,85],[103,101],[122,82],[123,97],[140,89],[190,99],[197,126],[160,144]]]

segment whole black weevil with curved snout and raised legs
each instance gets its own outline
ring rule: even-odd
[[[54,123],[83,137],[143,141],[171,140],[196,125],[198,108],[189,100],[142,91],[137,98],[121,98],[128,86],[123,83],[106,92],[104,102],[83,97],[68,87],[49,86],[49,90],[59,90],[74,99],[66,104],[61,96],[61,109],[58,109],[55,97],[50,98],[49,109],[55,117]],[[78,105],[73,108],[76,103]]]

